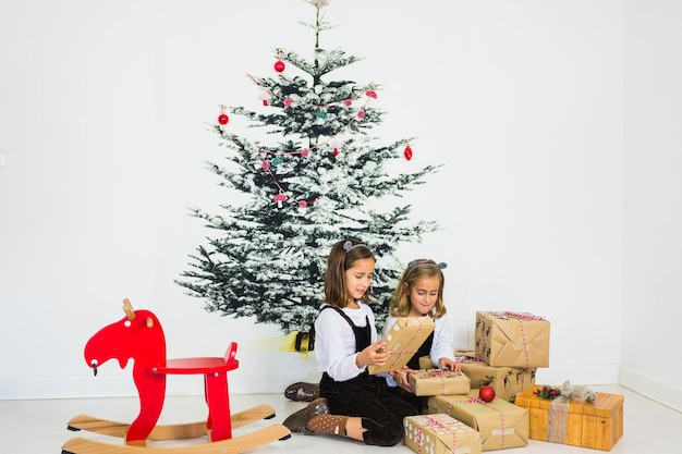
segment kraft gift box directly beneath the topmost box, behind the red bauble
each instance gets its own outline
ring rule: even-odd
[[[454,356],[464,357],[460,363],[462,373],[468,377],[472,388],[488,384],[504,401],[514,402],[517,394],[535,384],[536,367],[488,366],[473,349],[455,349]]]

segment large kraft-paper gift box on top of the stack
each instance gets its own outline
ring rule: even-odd
[[[476,354],[489,366],[549,367],[549,321],[525,312],[476,312]]]

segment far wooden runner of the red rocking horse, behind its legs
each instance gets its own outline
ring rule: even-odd
[[[275,408],[269,405],[256,405],[231,415],[232,428],[246,426],[248,424],[271,419],[275,417]],[[130,424],[118,422],[108,419],[100,419],[88,415],[78,415],[69,421],[69,430],[87,430],[88,432],[101,433],[102,435],[125,438]],[[185,440],[205,437],[206,421],[186,422],[178,425],[156,426],[147,440]]]

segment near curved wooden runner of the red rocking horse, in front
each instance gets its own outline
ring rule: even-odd
[[[113,444],[77,437],[62,445],[62,454],[144,454],[149,452],[169,454],[240,454],[256,446],[288,438],[291,438],[291,432],[282,425],[270,426],[228,440],[174,447]]]

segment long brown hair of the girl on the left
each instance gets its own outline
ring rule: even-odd
[[[357,260],[366,258],[377,261],[372,249],[357,238],[341,240],[332,246],[325,273],[325,303],[333,307],[348,306],[352,296],[345,287],[345,271],[353,268]],[[367,293],[361,300],[372,303]]]

